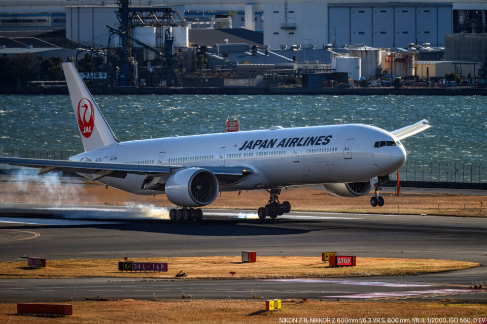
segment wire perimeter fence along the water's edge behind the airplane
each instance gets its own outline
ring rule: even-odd
[[[0,156],[26,157],[40,159],[67,159],[69,156],[79,154],[76,150],[32,150],[32,149],[0,149]],[[0,164],[0,171],[25,169],[22,167]],[[8,173],[8,172],[7,172]],[[397,180],[396,173],[390,176],[392,181]],[[437,162],[413,160],[399,169],[400,181],[411,182],[450,182],[450,183],[487,183],[486,163]]]

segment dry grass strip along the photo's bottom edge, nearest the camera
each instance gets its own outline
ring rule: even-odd
[[[263,300],[119,300],[70,302],[73,315],[65,317],[17,315],[16,304],[0,304],[0,323],[281,323],[311,322],[311,319],[335,318],[342,323],[359,318],[384,318],[384,322],[412,323],[412,318],[434,320],[456,318],[458,322],[482,323],[485,304],[451,302],[337,302],[319,300],[283,300],[281,311],[266,312]],[[280,320],[281,319],[281,320]],[[409,321],[400,321],[409,320]],[[480,319],[480,321],[479,321]],[[306,321],[304,321],[306,320]],[[389,321],[388,321],[389,320]],[[393,320],[393,321],[390,321]],[[397,321],[395,321],[397,320]],[[465,321],[463,321],[465,320]],[[316,321],[318,322],[318,321]],[[359,321],[357,320],[356,323]],[[485,321],[484,323],[486,323]],[[331,323],[331,321],[330,321]]]

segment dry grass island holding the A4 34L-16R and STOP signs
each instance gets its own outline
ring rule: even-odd
[[[1,262],[0,278],[140,277],[172,278],[180,270],[185,279],[264,279],[422,274],[472,268],[479,263],[399,258],[357,258],[355,267],[330,267],[317,257],[259,257],[244,263],[241,257],[131,258],[141,262],[167,262],[167,272],[120,272],[121,259],[47,260],[47,267],[32,269],[27,261]],[[232,276],[230,271],[235,272]]]

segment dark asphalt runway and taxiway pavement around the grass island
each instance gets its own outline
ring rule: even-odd
[[[292,212],[261,221],[255,212],[205,210],[199,224],[172,224],[147,206],[0,204],[0,261],[240,255],[451,259],[485,263],[483,218]],[[11,222],[17,223],[11,223]],[[23,223],[24,222],[24,223]],[[17,233],[18,232],[18,233]],[[29,238],[36,235],[36,237]],[[179,271],[180,269],[177,269]],[[184,269],[183,269],[184,270]],[[176,271],[176,269],[175,269]],[[176,273],[176,272],[175,272]],[[138,281],[122,278],[0,279],[0,301],[105,298],[445,299],[487,301],[485,266],[419,276],[320,280]],[[110,280],[110,281],[109,281]]]

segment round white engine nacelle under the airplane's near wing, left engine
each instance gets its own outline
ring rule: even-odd
[[[182,207],[201,207],[218,196],[218,179],[210,171],[188,168],[171,175],[165,185],[167,199]]]

